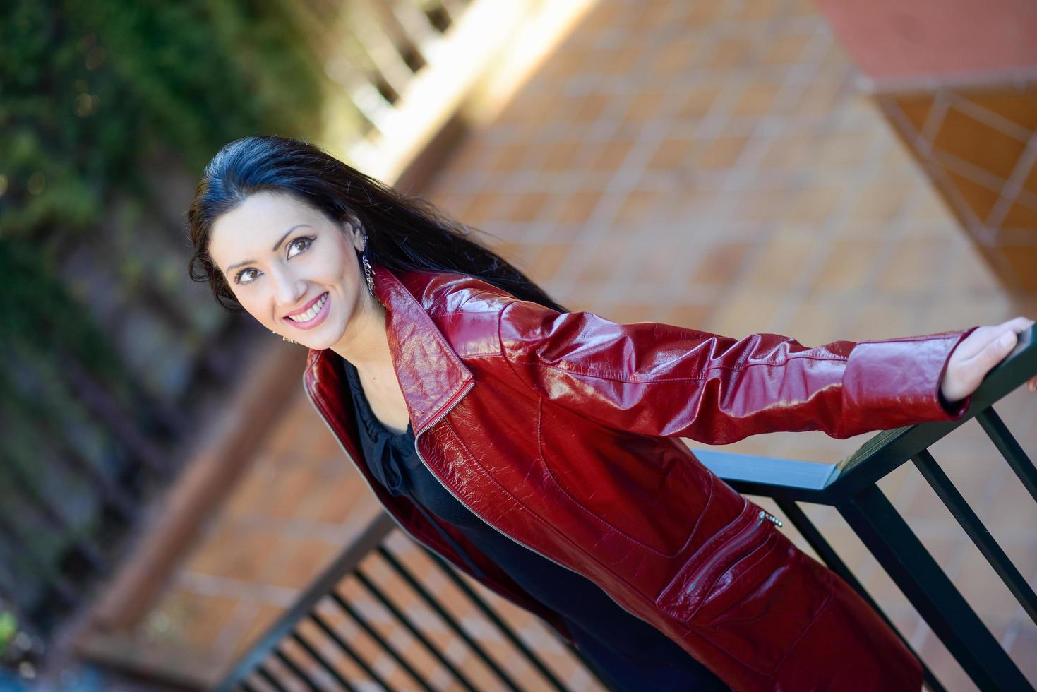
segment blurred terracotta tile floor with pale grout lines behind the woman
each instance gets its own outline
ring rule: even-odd
[[[1037,316],[1034,297],[999,287],[854,84],[809,1],[600,0],[427,195],[492,232],[570,309],[618,321],[817,345]],[[229,662],[375,510],[301,391],[291,407],[142,637]],[[1037,397],[1019,390],[999,411],[1034,455]],[[834,462],[867,437],[774,434],[726,448]],[[298,440],[310,441],[305,453],[285,443]],[[933,452],[1024,575],[1037,577],[1037,506],[978,425]],[[908,468],[880,486],[1037,681],[1037,628],[931,491]],[[947,688],[973,689],[838,515],[808,510]],[[512,616],[552,648],[533,618]],[[552,656],[573,689],[590,686]],[[380,669],[409,684],[391,660]],[[446,685],[437,670],[433,685]]]

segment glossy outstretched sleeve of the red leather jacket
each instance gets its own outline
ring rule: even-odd
[[[734,339],[514,301],[500,313],[499,335],[515,376],[559,406],[634,433],[727,444],[759,433],[847,438],[956,420],[969,398],[946,410],[940,381],[973,329],[808,348],[778,334]]]

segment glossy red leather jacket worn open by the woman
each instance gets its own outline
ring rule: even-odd
[[[919,690],[917,659],[833,572],[708,471],[678,437],[836,438],[960,417],[937,399],[971,330],[810,349],[559,313],[463,274],[375,268],[415,446],[487,524],[599,584],[735,690]],[[372,481],[334,353],[305,387],[414,538],[472,574],[410,500]],[[568,636],[465,536],[488,588]],[[475,575],[473,575],[475,576]],[[476,577],[478,579],[478,577]]]

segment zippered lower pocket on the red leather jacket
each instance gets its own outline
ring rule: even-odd
[[[689,562],[656,605],[742,665],[770,674],[830,597],[826,571],[755,509],[708,557]],[[809,562],[808,562],[809,560]]]

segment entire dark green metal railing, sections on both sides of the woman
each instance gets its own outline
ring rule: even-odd
[[[996,402],[1037,373],[1035,334],[1037,329],[1032,328],[1019,335],[1019,343],[1015,350],[987,375],[982,386],[973,394],[965,415],[959,420],[928,422],[885,431],[869,439],[857,452],[839,464],[817,464],[702,449],[696,449],[695,452],[703,464],[739,493],[773,498],[825,564],[856,588],[896,631],[889,617],[867,593],[818,527],[810,521],[800,503],[818,503],[836,507],[980,689],[1033,690],[1026,676],[1001,647],[972,606],[882,494],[877,482],[907,461],[912,461],[1026,612],[1037,622],[1037,597],[1033,589],[929,452],[929,447],[936,441],[976,418],[1030,495],[1037,501],[1037,469],[992,408]],[[413,618],[409,618],[404,610],[391,605],[391,600],[366,578],[364,569],[360,566],[362,560],[376,554],[387,561],[392,570],[405,571],[384,545],[393,528],[392,520],[387,515],[380,516],[368,526],[363,535],[306,590],[299,602],[239,660],[218,689],[221,692],[237,689],[247,692],[270,688],[278,691],[287,689],[286,681],[272,671],[272,661],[278,662],[282,674],[287,671],[297,683],[302,682],[305,689],[329,689],[329,680],[333,680],[340,689],[345,690],[355,689],[355,686],[361,684],[360,681],[373,681],[384,689],[394,689],[376,673],[369,659],[364,660],[351,642],[345,641],[318,614],[317,606],[325,599],[333,601],[367,635],[380,641],[384,652],[408,671],[417,688],[432,689],[428,681],[423,680],[396,648],[385,642],[357,608],[339,593],[343,580],[359,580],[363,587],[376,600],[386,604],[403,627],[427,648],[430,651],[435,648],[435,644],[427,641],[427,637],[423,638],[423,635],[419,634],[414,627]],[[500,628],[516,651],[529,657],[539,676],[535,682],[524,680],[525,689],[545,689],[544,682],[554,689],[566,689],[538,655],[522,642],[500,615],[489,608],[461,577],[440,558],[430,553],[429,555],[443,574],[473,599],[487,621]],[[403,578],[423,601],[444,615],[445,610],[423,589],[420,580],[413,575],[404,575]],[[498,674],[499,681],[507,689],[524,689],[518,686],[517,681],[501,670],[499,665],[488,660],[477,638],[466,633],[456,621],[448,619],[448,615],[444,615],[444,619],[447,619],[456,636]],[[327,638],[354,662],[355,668],[362,671],[358,676],[347,677],[342,674],[318,653],[317,642],[308,641],[300,634],[301,624],[307,620],[315,624]],[[900,636],[903,639],[903,636]],[[288,640],[293,640],[305,649],[310,660],[304,662],[298,657],[296,659],[289,657],[284,651],[284,643]],[[906,640],[904,643],[909,647]],[[577,652],[572,653],[579,656]],[[435,656],[461,687],[475,689],[465,673],[443,656],[442,651]],[[311,672],[314,667],[323,669],[326,673],[319,685],[314,682]],[[934,691],[945,690],[924,662],[923,667],[927,687]]]

